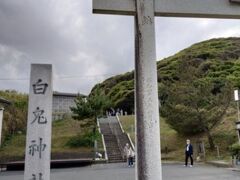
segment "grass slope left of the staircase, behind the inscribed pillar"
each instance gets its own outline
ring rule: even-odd
[[[63,156],[66,154],[79,154],[81,158],[83,153],[92,153],[93,148],[79,147],[71,148],[66,146],[70,138],[77,136],[80,131],[81,122],[66,119],[53,122],[52,129],[52,155]],[[25,153],[25,134],[16,134],[5,142],[5,145],[0,148],[0,162],[23,160]],[[102,142],[99,140],[99,150],[102,150]]]

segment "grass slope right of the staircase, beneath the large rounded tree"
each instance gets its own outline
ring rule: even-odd
[[[235,131],[236,112],[234,109],[229,110],[224,120],[213,131],[214,140],[220,150],[220,159],[230,161],[231,155],[228,147],[236,142]],[[135,143],[135,116],[120,116],[123,129],[130,134],[132,141]],[[184,137],[179,136],[166,122],[160,118],[161,131],[161,151],[162,158],[165,160],[183,161],[184,147],[186,139],[191,139],[192,143],[203,140],[206,146],[206,160],[217,160],[217,151],[210,151],[207,138],[202,136]],[[168,148],[168,154],[165,148]]]

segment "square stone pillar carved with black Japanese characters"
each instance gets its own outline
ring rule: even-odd
[[[52,65],[32,64],[24,180],[50,180]]]

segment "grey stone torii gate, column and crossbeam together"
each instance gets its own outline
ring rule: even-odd
[[[240,19],[240,0],[93,0],[93,13],[135,16],[137,180],[162,180],[154,16]]]

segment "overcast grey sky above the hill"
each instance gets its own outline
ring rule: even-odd
[[[133,70],[133,27],[133,17],[92,14],[91,0],[0,0],[0,89],[28,92],[30,64],[50,63],[55,91],[88,94]],[[157,17],[157,58],[230,36],[240,20]]]

